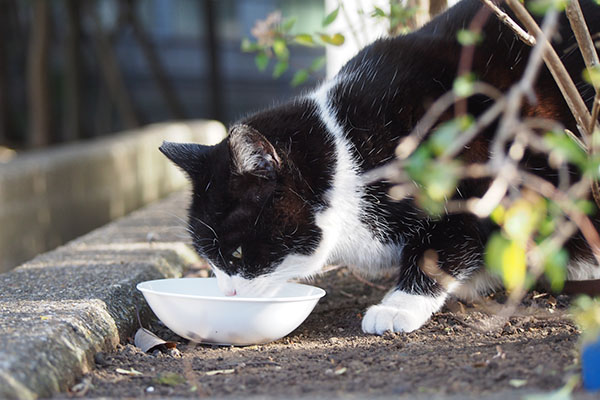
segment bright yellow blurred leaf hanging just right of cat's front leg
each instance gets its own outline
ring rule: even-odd
[[[513,290],[525,284],[527,276],[525,248],[517,241],[494,233],[488,240],[485,262],[490,270],[502,277],[504,286]]]

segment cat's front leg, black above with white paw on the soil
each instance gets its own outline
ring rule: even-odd
[[[485,233],[472,216],[427,220],[403,249],[398,285],[362,321],[366,333],[420,328],[482,265]]]

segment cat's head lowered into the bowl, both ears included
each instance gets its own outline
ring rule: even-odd
[[[188,230],[227,295],[260,295],[314,271],[290,268],[320,239],[306,182],[292,160],[240,124],[216,146],[165,142],[160,151],[192,182]]]

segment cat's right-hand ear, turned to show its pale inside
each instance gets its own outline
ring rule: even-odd
[[[229,134],[229,151],[237,174],[252,174],[274,178],[281,167],[281,158],[275,147],[256,129],[236,125]]]

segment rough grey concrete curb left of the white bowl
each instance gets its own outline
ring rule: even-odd
[[[177,193],[0,275],[0,398],[48,397],[149,313],[138,282],[181,276],[189,195]]]

